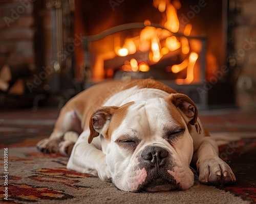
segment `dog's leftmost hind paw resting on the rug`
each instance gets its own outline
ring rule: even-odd
[[[55,139],[43,139],[40,140],[37,144],[36,147],[39,149],[41,152],[44,153],[57,153],[59,151],[59,140]]]

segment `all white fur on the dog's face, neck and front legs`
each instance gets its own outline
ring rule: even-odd
[[[67,168],[97,175],[103,181],[112,180],[119,189],[135,192],[147,176],[145,169],[139,168],[140,152],[148,145],[157,145],[168,149],[172,154],[172,161],[176,166],[174,170],[167,169],[166,174],[174,176],[182,190],[194,184],[194,175],[189,168],[193,154],[193,161],[200,171],[201,182],[218,180],[219,171],[227,171],[223,174],[224,177],[228,174],[232,181],[235,181],[236,178],[229,166],[219,159],[215,141],[205,137],[203,130],[202,134],[198,134],[194,125],[191,125],[192,130],[189,133],[181,114],[179,122],[184,124],[186,130],[175,141],[175,148],[163,139],[164,125],[177,125],[163,99],[167,95],[159,89],[138,89],[137,86],[113,95],[103,106],[120,107],[130,101],[135,103],[129,107],[121,124],[111,135],[111,141],[107,141],[101,135],[89,144],[89,128],[83,131],[74,145]],[[200,120],[199,124],[202,126]],[[108,125],[108,123],[104,125],[103,132]],[[133,152],[129,151],[115,142],[122,135],[134,135],[141,142]]]

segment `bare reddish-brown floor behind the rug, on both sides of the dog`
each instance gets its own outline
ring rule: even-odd
[[[58,116],[57,108],[1,110],[0,132],[10,125],[44,124],[52,126]],[[199,112],[200,119],[210,132],[254,132],[256,133],[256,110],[218,109]]]

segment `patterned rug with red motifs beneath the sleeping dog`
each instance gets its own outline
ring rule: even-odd
[[[241,138],[238,134],[239,137],[232,136],[236,141],[229,141],[228,134],[225,139],[223,134],[213,134],[217,139],[222,135],[218,139],[220,157],[237,177],[232,185],[202,185],[195,175],[194,187],[186,191],[131,193],[101,182],[98,177],[67,170],[66,157],[38,152],[35,143],[46,138],[51,129],[51,125],[37,125],[33,132],[30,125],[30,132],[12,129],[11,136],[1,137],[1,203],[256,203],[255,135]],[[7,126],[5,130],[8,131]],[[38,137],[33,139],[35,134]]]

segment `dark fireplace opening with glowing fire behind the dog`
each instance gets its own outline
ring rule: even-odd
[[[108,79],[152,78],[189,95],[199,107],[233,103],[228,1],[75,3],[75,33],[83,36],[75,52],[76,76],[86,87]]]

